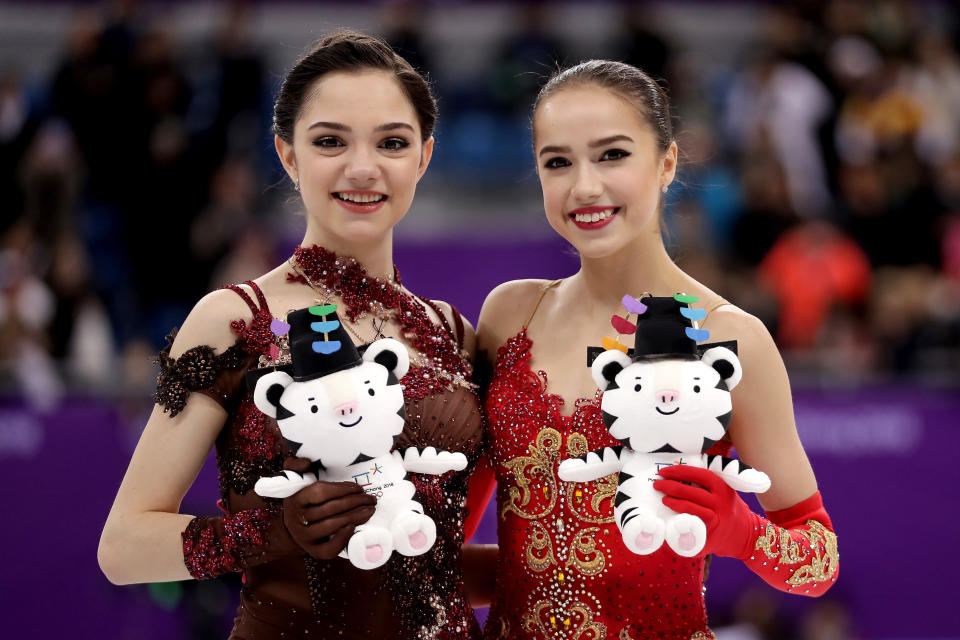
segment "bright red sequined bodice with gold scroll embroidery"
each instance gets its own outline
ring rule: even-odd
[[[486,638],[706,640],[703,558],[664,546],[649,556],[623,545],[613,522],[616,474],[563,482],[562,460],[618,444],[603,423],[601,392],[575,403],[548,393],[530,369],[526,330],[497,352],[486,399],[487,454],[497,478],[500,556]]]

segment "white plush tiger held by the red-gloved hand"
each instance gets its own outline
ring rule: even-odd
[[[726,347],[701,354],[695,340],[705,339],[706,332],[689,320],[702,318],[703,311],[677,298],[692,296],[633,300],[628,308],[640,312],[633,355],[608,349],[591,366],[604,391],[604,423],[622,445],[565,460],[558,470],[562,480],[576,482],[619,472],[614,519],[627,548],[640,555],[666,541],[677,554],[695,556],[707,539],[700,518],[675,513],[661,502],[663,494],[653,488],[660,468],[689,464],[714,471],[738,491],[770,488],[765,473],[706,454],[730,425],[730,391],[740,382],[742,369]]]

